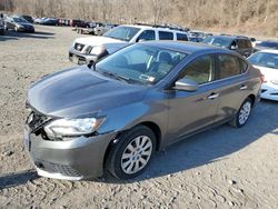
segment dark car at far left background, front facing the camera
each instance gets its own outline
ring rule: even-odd
[[[6,18],[7,30],[14,30],[17,32],[34,32],[34,28],[31,23],[17,16]]]

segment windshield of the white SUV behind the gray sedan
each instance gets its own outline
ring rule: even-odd
[[[107,31],[103,37],[130,41],[139,30],[139,28],[133,27],[116,27],[112,30]]]

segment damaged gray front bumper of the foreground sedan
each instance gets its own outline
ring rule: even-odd
[[[24,130],[24,147],[38,175],[81,180],[100,177],[108,145],[115,132],[78,137],[70,141],[49,141]]]

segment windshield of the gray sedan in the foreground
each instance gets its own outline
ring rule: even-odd
[[[96,71],[126,82],[155,84],[187,54],[146,44],[127,47],[96,64]]]

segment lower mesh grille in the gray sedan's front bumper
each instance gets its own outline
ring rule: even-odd
[[[81,177],[81,175],[70,166],[57,165],[47,161],[36,161],[34,165],[47,172],[61,173],[68,177]]]

